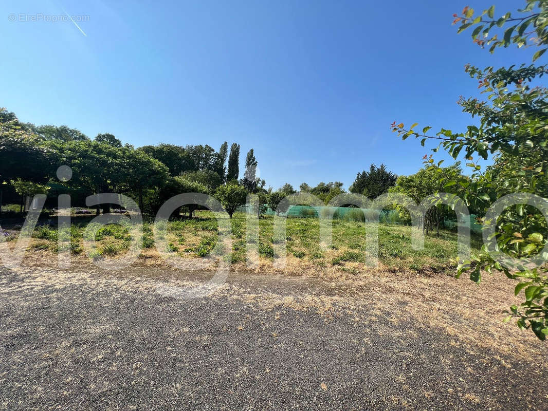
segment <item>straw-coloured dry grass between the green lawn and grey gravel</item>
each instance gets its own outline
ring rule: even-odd
[[[270,277],[271,279],[266,281],[277,281],[276,275],[304,277],[307,282],[312,282],[315,287],[318,287],[317,292],[289,293],[275,289],[258,291],[253,287],[231,284],[215,295],[227,296],[263,310],[275,311],[275,318],[281,318],[286,310],[313,311],[327,319],[333,316],[350,315],[356,322],[375,324],[374,327],[378,328],[379,333],[387,332],[380,326],[383,322],[387,321],[393,326],[402,322],[412,322],[419,328],[441,330],[450,336],[451,344],[455,346],[463,344],[467,350],[473,350],[473,347],[486,347],[522,358],[546,357],[542,350],[543,346],[530,332],[520,331],[514,324],[502,322],[506,316],[507,307],[521,302],[520,298],[513,295],[515,283],[505,276],[485,274],[479,286],[464,277],[457,280],[448,275],[451,271],[447,267],[443,270],[436,268],[445,264],[443,261],[446,260],[442,261],[440,257],[430,257],[423,253],[416,256],[416,261],[420,262],[418,264],[414,262],[413,255],[408,253],[408,248],[405,249],[405,253],[396,257],[399,265],[391,265],[392,257],[385,259],[376,268],[368,267],[362,261],[343,261],[341,265],[332,265],[328,264],[332,259],[355,250],[358,247],[357,240],[355,241],[353,237],[350,240],[347,238],[346,243],[349,245],[339,244],[336,249],[323,252],[321,258],[314,258],[313,253],[316,252],[317,244],[310,244],[310,233],[315,230],[314,223],[295,221],[294,224],[296,228],[309,226],[310,230],[303,232],[302,235],[293,234],[293,244],[289,244],[290,254],[287,256],[287,265],[283,270],[275,269],[272,259],[259,255],[257,264],[252,268],[247,267],[245,261],[233,262],[232,272],[239,273],[239,276],[243,277],[255,273],[267,274],[262,278]],[[409,242],[406,237],[406,227],[381,228],[384,230],[384,235],[392,241],[392,249]],[[340,232],[335,233],[340,235]],[[176,243],[178,248],[174,258],[187,261],[187,266],[183,267],[185,270],[215,269],[214,259],[198,259],[195,252],[185,253],[184,250],[192,247],[196,249],[204,236],[210,234],[211,230],[203,230],[199,226],[193,226],[192,223],[182,234],[184,241],[180,241],[180,231],[168,232],[168,240]],[[266,235],[269,233],[266,232]],[[403,236],[401,241],[398,240],[399,236]],[[241,240],[238,238],[238,233],[233,237],[235,237],[233,243]],[[343,237],[339,236],[338,240],[336,237],[334,235],[335,244],[338,244],[337,241],[344,241]],[[431,241],[437,240],[431,239]],[[76,267],[75,273],[59,276],[57,271],[52,270],[56,265],[56,259],[52,250],[46,247],[47,239],[37,239],[36,243],[39,247],[31,246],[32,250],[26,253],[24,266],[32,270],[47,267],[47,270],[36,272],[42,272],[42,277],[47,277],[48,283],[53,282],[61,286],[67,281],[82,281],[86,284],[90,282],[100,284],[106,281],[105,278],[108,281],[118,281],[116,275],[106,274],[105,277],[105,273],[94,269],[84,254],[72,256],[73,266]],[[448,247],[449,243],[448,239],[441,239],[434,243],[432,249]],[[227,245],[227,247],[230,246]],[[299,252],[305,255],[302,256]],[[420,266],[420,270],[405,269],[406,266],[413,264]],[[123,286],[141,289],[144,287],[147,292],[156,292],[159,280],[149,277],[146,271],[152,266],[166,267],[167,265],[168,263],[161,257],[158,250],[145,249],[139,259],[134,262],[134,268],[130,270],[129,277],[123,279]],[[85,269],[85,275],[78,273],[82,269]],[[175,276],[186,275],[179,271],[174,273]],[[46,281],[42,277],[33,278],[28,286],[35,287],[41,281]],[[175,277],[170,279],[169,284],[184,287],[196,282]],[[410,338],[412,333],[410,331],[410,334],[402,334],[400,338]]]

